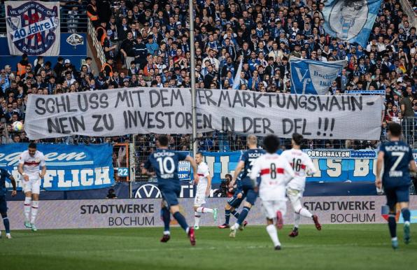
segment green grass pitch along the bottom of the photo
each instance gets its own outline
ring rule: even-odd
[[[415,225],[412,242],[398,250],[387,225],[324,225],[320,232],[308,225],[295,239],[290,229],[278,231],[280,251],[263,226],[236,239],[229,229],[200,227],[195,247],[178,227],[168,243],[160,243],[162,228],[15,231],[0,239],[0,269],[416,269]],[[402,225],[397,230],[402,240]]]

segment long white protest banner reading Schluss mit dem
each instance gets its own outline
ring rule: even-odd
[[[197,90],[197,132],[222,130],[305,138],[377,140],[381,96],[318,96],[243,90]],[[190,89],[125,88],[30,94],[30,139],[70,135],[190,134]]]

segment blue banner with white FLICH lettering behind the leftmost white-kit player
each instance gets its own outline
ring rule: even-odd
[[[27,150],[27,146],[27,143],[0,146],[0,166],[13,175],[18,187],[22,180],[17,165],[20,153]],[[37,147],[46,159],[42,190],[92,190],[114,185],[113,148],[109,144],[38,144]]]

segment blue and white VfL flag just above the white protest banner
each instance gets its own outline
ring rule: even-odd
[[[320,62],[290,57],[292,94],[327,94],[346,61]]]

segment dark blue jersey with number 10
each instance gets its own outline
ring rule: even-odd
[[[188,155],[184,152],[177,152],[168,149],[157,149],[149,155],[145,168],[153,167],[157,175],[158,183],[179,183],[178,162],[184,160]]]

